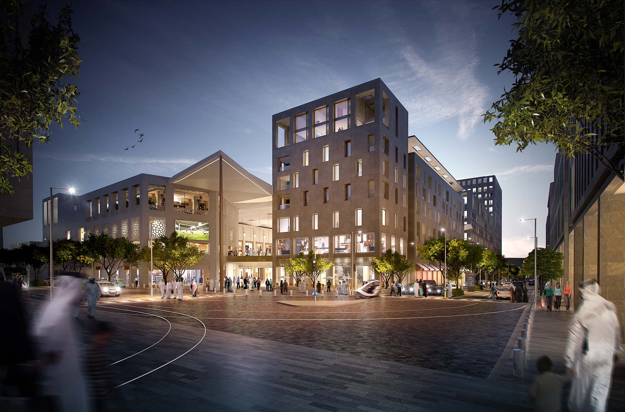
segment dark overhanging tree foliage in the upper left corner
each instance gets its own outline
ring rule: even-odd
[[[34,140],[49,142],[54,125],[80,124],[76,114],[80,37],[72,29],[72,9],[65,5],[58,22],[47,21],[46,6],[32,16],[31,31],[22,42],[12,24],[23,14],[21,0],[0,2],[0,193],[12,194],[9,178],[32,174],[32,163],[18,150]]]

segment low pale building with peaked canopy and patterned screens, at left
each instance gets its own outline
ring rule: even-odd
[[[51,219],[50,199],[43,200],[43,234],[49,236],[52,222],[54,239],[82,241],[90,233],[106,233],[143,247],[176,231],[206,254],[189,267],[185,282],[217,278],[220,267],[229,277],[264,280],[272,275],[271,193],[271,185],[220,151],[173,177],[140,174],[83,195],[54,194]],[[98,264],[84,272],[96,278],[106,274]],[[138,275],[144,285],[148,272],[149,263],[143,263],[115,277],[131,284]],[[161,278],[156,272],[154,283]]]

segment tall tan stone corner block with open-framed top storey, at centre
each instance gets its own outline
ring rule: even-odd
[[[273,270],[309,250],[336,285],[370,278],[386,249],[406,255],[408,112],[381,79],[273,115]]]

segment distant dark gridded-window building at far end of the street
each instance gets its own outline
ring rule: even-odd
[[[466,237],[492,252],[501,253],[501,186],[497,177],[470,177],[460,179],[459,182],[467,195],[464,222],[467,225]]]

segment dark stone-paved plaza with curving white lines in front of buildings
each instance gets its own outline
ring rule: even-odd
[[[123,385],[113,410],[532,410],[529,380],[507,370],[486,379],[522,304],[382,297],[302,308],[276,303],[297,292],[240,292],[101,299],[96,316],[116,327],[111,368]],[[28,302],[35,314],[41,303]],[[86,341],[93,323],[78,322]]]

